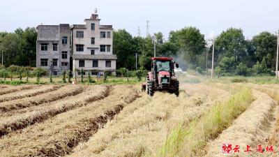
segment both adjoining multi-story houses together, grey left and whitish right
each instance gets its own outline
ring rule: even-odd
[[[80,75],[103,75],[115,72],[116,55],[112,54],[112,25],[100,25],[94,13],[85,24],[38,25],[36,66],[54,75],[73,70]]]

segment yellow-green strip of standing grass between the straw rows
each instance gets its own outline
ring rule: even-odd
[[[203,156],[206,142],[218,137],[249,107],[252,100],[252,91],[243,88],[224,103],[214,105],[188,126],[180,124],[167,137],[159,156]]]

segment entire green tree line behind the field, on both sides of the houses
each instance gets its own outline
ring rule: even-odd
[[[183,70],[199,73],[211,68],[212,45],[196,27],[170,31],[156,36],[156,56],[174,57]],[[132,36],[125,29],[114,31],[113,52],[117,55],[117,69],[151,68],[153,36]],[[37,31],[34,27],[16,29],[14,33],[0,32],[0,53],[3,65],[36,66]],[[229,28],[215,39],[214,67],[218,75],[273,75],[276,66],[276,35],[264,31],[246,39],[242,29]],[[1,55],[0,55],[1,58]],[[1,61],[1,60],[0,60]]]

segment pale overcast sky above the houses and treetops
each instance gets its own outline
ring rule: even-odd
[[[126,29],[133,36],[140,27],[146,36],[146,20],[150,33],[161,31],[167,39],[169,31],[187,26],[197,27],[209,38],[229,27],[243,29],[246,38],[261,31],[275,33],[279,29],[278,0],[0,0],[0,31],[38,24],[83,24],[95,8],[101,24]]]

